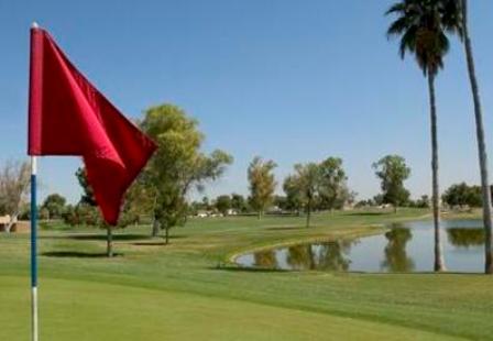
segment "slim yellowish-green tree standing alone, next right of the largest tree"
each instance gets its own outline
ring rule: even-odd
[[[265,210],[274,199],[276,182],[274,168],[277,165],[272,161],[263,161],[255,156],[250,163],[248,177],[250,183],[250,206],[258,212],[259,219],[262,218]]]

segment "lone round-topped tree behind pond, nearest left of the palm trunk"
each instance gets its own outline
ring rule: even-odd
[[[392,204],[394,211],[397,207],[406,202],[409,191],[404,187],[404,182],[410,175],[410,168],[406,165],[404,157],[398,155],[387,155],[373,164],[375,175],[381,180],[383,202]]]

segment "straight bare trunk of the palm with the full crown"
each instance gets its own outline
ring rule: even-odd
[[[435,232],[435,271],[445,271],[443,251],[440,241],[440,191],[438,186],[438,134],[437,134],[437,106],[435,100],[435,74],[428,74],[429,107],[431,119],[431,173],[432,173],[432,210]]]

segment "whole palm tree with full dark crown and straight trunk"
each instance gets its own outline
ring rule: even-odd
[[[419,68],[428,80],[430,121],[431,121],[431,172],[432,210],[435,228],[435,271],[445,271],[440,242],[440,201],[438,185],[438,136],[435,79],[443,68],[443,57],[449,50],[446,32],[456,30],[451,18],[447,15],[445,2],[439,0],[402,0],[393,4],[385,13],[397,19],[390,25],[387,37],[399,36],[399,54],[414,54]]]

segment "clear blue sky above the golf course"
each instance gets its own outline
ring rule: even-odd
[[[196,118],[204,151],[234,157],[205,195],[248,194],[260,155],[283,178],[296,163],[343,158],[359,199],[371,167],[401,154],[414,197],[430,193],[428,90],[413,57],[385,36],[387,0],[0,0],[0,164],[25,160],[29,29],[48,30],[127,117],[168,102]],[[493,167],[493,2],[470,2],[471,35]],[[437,79],[441,188],[479,183],[473,107],[460,43]],[[76,202],[77,157],[43,157],[42,197]]]

